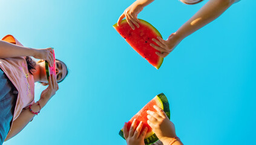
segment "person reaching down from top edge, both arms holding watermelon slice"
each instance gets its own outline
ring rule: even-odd
[[[123,18],[126,19],[130,27],[135,30],[139,28],[139,19],[137,19],[137,14],[143,10],[146,5],[150,4],[154,0],[137,0],[130,7],[121,14],[117,21],[117,26],[120,25]],[[185,4],[198,4],[203,0],[180,0]],[[185,37],[199,30],[203,26],[209,24],[209,22],[214,21],[220,16],[224,11],[226,11],[232,4],[240,0],[209,0],[197,13],[192,16],[182,27],[179,28],[175,33],[172,33],[167,40],[163,40],[161,37],[153,38],[152,40],[158,45],[150,43],[151,47],[156,50],[161,51],[161,53],[156,52],[160,57],[166,57],[171,53],[177,45],[185,39]]]

